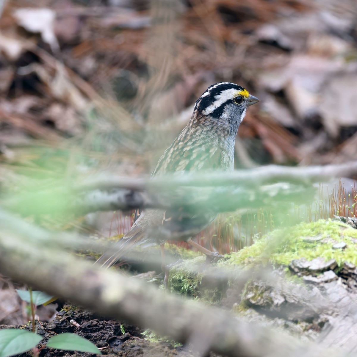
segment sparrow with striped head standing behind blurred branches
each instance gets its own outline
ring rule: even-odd
[[[196,101],[191,120],[160,157],[151,177],[185,172],[233,171],[235,139],[247,108],[259,99],[234,83],[219,82],[207,88]],[[191,240],[210,225],[216,212],[178,210],[137,210],[131,229],[96,261],[109,268],[135,246],[160,245],[162,270],[167,282],[164,263],[164,244],[167,240],[187,241],[207,256],[217,252],[202,247]]]

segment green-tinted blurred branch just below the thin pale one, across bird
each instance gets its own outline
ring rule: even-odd
[[[41,194],[42,193],[42,194]],[[147,193],[127,189],[94,190],[82,192],[55,191],[46,194],[26,193],[4,200],[2,206],[22,214],[75,213],[84,215],[96,211],[128,211],[134,208],[178,209],[183,212],[231,212],[239,208],[261,208],[287,203],[311,203],[316,188],[290,183],[276,183],[251,187],[242,183],[240,187],[177,187],[158,193]],[[51,195],[51,199],[49,199]],[[36,200],[36,205],[33,204]]]

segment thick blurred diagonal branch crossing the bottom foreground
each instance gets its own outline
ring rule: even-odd
[[[14,280],[182,343],[201,338],[207,351],[235,357],[343,355],[302,343],[282,331],[239,321],[227,311],[157,291],[64,252],[40,250],[13,233],[0,233],[0,250],[0,272]]]

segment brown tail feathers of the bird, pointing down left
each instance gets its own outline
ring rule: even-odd
[[[132,247],[139,245],[141,243],[143,231],[139,227],[136,228],[137,229],[131,229],[120,241],[116,242],[112,247],[105,251],[95,264],[99,264],[104,268],[109,268]]]

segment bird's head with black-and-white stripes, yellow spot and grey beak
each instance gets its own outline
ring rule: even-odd
[[[198,98],[191,122],[193,125],[212,124],[218,129],[228,130],[231,135],[236,135],[247,108],[258,101],[258,98],[237,84],[216,83],[208,87]]]

